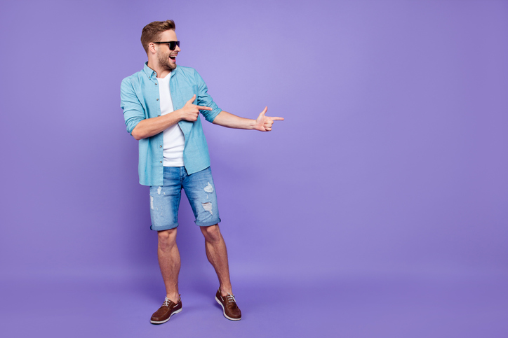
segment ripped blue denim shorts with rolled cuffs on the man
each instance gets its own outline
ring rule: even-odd
[[[208,227],[220,222],[210,167],[190,175],[185,167],[164,167],[163,173],[163,185],[150,187],[150,229],[161,231],[178,227],[182,188],[192,206],[196,225]]]

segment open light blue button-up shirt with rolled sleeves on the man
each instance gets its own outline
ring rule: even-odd
[[[145,118],[155,118],[161,115],[159,101],[159,85],[156,73],[145,63],[144,69],[138,71],[121,82],[121,108],[127,126],[127,132],[133,129]],[[208,122],[213,122],[222,110],[215,104],[208,94],[208,87],[199,73],[189,67],[177,66],[170,74],[169,80],[173,108],[185,106],[185,103],[196,94],[194,104],[208,106],[211,111],[200,111]],[[185,136],[183,162],[187,174],[193,174],[210,166],[210,155],[206,144],[201,119],[198,115],[196,122],[182,120],[178,122]],[[140,184],[162,185],[163,181],[163,133],[160,132],[139,141]]]

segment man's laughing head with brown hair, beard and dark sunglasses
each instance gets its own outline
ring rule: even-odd
[[[154,21],[143,28],[141,43],[147,52],[149,64],[158,64],[168,71],[176,68],[175,58],[180,52],[180,47],[175,43],[169,43],[171,41],[178,41],[173,20]]]

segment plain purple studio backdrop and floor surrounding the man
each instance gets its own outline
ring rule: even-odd
[[[270,133],[204,129],[234,293],[187,199],[163,301],[122,78],[178,63]],[[507,1],[2,1],[3,337],[508,337]]]

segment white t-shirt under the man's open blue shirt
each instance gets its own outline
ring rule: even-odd
[[[161,101],[161,115],[173,112],[173,101],[169,92],[169,79],[171,72],[165,78],[157,78],[159,81],[159,96]],[[185,136],[178,123],[168,127],[163,132],[164,137],[164,167],[183,167],[183,148]]]

